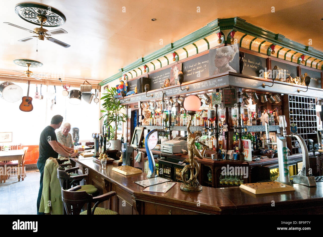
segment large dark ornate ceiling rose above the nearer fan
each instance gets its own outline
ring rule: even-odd
[[[46,27],[57,27],[66,22],[66,17],[63,13],[45,5],[20,3],[15,6],[15,12],[25,21],[37,26],[40,26],[40,20],[43,21],[43,26]]]

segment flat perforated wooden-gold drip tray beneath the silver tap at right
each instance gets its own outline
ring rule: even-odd
[[[295,191],[292,186],[277,181],[241,184],[240,189],[245,189],[253,194],[277,193]]]

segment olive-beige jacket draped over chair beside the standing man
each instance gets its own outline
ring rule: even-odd
[[[57,178],[58,163],[55,158],[46,160],[39,212],[63,215],[62,191]]]

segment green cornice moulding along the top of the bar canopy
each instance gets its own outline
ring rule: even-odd
[[[194,31],[193,33],[179,40],[176,40],[175,42],[170,43],[165,47],[158,49],[157,51],[143,58],[136,60],[135,62],[131,63],[128,66],[125,66],[124,68],[119,69],[118,73],[101,81],[99,84],[103,86],[111,81],[114,81],[120,78],[122,74],[125,72],[129,72],[131,70],[137,69],[140,66],[143,66],[155,59],[158,59],[169,53],[172,53],[179,48],[183,48],[186,45],[191,44],[199,39],[205,38],[208,35],[211,35],[216,32],[220,32],[222,30],[230,30],[230,29],[235,31],[240,31],[245,34],[264,39],[268,42],[271,42],[274,45],[279,45],[291,50],[295,50],[304,55],[308,55],[316,59],[323,60],[323,53],[321,51],[318,51],[317,49],[314,49],[311,46],[302,45],[293,40],[285,38],[285,36],[281,34],[275,34],[271,31],[252,25],[246,22],[244,19],[241,19],[239,17],[233,17],[233,18],[225,18],[225,19],[215,19],[214,21]]]

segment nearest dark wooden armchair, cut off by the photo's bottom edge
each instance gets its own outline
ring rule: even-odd
[[[62,189],[62,200],[68,215],[117,215],[118,213],[110,209],[97,207],[99,203],[109,200],[116,195],[115,191],[108,192],[98,197],[93,197],[85,191],[79,191],[78,185],[68,190]],[[95,203],[91,209],[91,204]],[[87,210],[82,211],[82,207],[87,204]]]

